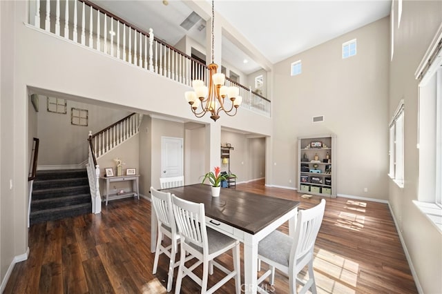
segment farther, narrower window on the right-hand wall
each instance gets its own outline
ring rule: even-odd
[[[403,100],[399,103],[390,123],[390,171],[388,175],[403,187]]]

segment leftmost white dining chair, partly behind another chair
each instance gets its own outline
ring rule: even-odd
[[[157,246],[152,272],[153,274],[157,273],[160,255],[162,253],[167,255],[169,257],[167,292],[170,292],[172,290],[173,269],[179,265],[179,262],[175,263],[175,255],[177,253],[177,242],[180,239],[175,224],[175,217],[173,217],[171,193],[164,193],[151,187],[151,202],[158,222]],[[171,239],[171,245],[166,247],[162,245],[164,235]]]

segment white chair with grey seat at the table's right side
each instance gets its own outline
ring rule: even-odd
[[[323,222],[325,199],[320,204],[298,212],[294,238],[280,231],[273,231],[262,239],[258,246],[258,261],[269,264],[270,269],[258,279],[258,285],[269,275],[270,284],[274,284],[275,268],[289,276],[289,293],[296,293],[296,282],[302,284],[299,293],[316,293],[316,283],[313,273],[314,245],[320,225]],[[298,273],[308,266],[309,280],[298,278]],[[258,287],[259,288],[259,287]],[[259,288],[260,293],[267,293]]]

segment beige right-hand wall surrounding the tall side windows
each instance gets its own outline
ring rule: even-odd
[[[398,188],[388,181],[390,205],[401,230],[423,293],[442,293],[442,237],[435,226],[412,203],[418,199],[419,153],[418,84],[414,79],[425,51],[441,26],[441,1],[403,1],[401,23],[394,2],[394,56],[390,62],[389,119],[401,99],[405,103],[405,183]]]

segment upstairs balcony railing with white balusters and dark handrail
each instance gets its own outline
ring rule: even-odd
[[[204,63],[155,38],[152,29],[145,32],[94,3],[32,0],[30,4],[30,23],[36,28],[187,86],[193,79],[208,82],[209,68]],[[270,117],[269,100],[231,79],[226,84],[240,88],[241,108]]]

